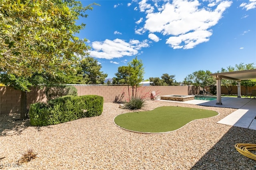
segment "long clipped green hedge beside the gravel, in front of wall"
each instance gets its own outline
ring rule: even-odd
[[[97,95],[64,96],[52,99],[48,103],[30,105],[30,124],[33,126],[56,125],[101,115],[103,97]]]

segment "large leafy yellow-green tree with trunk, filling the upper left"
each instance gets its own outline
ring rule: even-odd
[[[76,0],[0,0],[0,81],[20,89],[23,100],[31,85],[44,84],[33,77],[68,77],[88,55],[87,40],[74,36],[85,26],[76,20],[86,10],[92,4]],[[20,119],[25,111],[21,105]]]

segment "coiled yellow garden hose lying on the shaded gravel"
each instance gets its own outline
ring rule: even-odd
[[[253,160],[256,160],[256,155],[252,154],[249,150],[256,150],[256,144],[250,144],[250,143],[237,143],[235,144],[235,148],[240,154],[251,158]]]

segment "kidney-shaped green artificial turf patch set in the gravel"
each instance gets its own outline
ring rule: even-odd
[[[218,115],[216,111],[189,107],[163,106],[152,111],[124,113],[115,117],[116,125],[138,132],[169,132],[195,119]]]

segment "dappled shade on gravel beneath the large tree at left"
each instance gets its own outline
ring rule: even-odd
[[[30,125],[30,120],[20,121],[19,113],[1,114],[0,115],[0,136],[11,136],[15,134],[20,134],[23,130]],[[48,127],[48,126],[47,126]],[[41,127],[35,127],[38,131],[41,131]],[[51,127],[48,127],[51,128]]]

